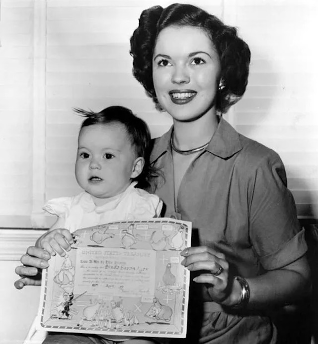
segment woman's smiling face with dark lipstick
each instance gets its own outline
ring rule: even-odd
[[[192,121],[214,114],[220,59],[200,28],[169,26],[158,36],[153,80],[161,107],[174,120]]]

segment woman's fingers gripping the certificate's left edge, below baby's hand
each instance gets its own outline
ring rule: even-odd
[[[20,261],[23,265],[15,268],[20,279],[14,282],[14,287],[22,289],[24,286],[40,286],[42,270],[49,266],[51,255],[42,248],[30,246]]]

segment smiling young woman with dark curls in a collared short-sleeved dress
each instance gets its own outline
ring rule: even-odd
[[[142,12],[131,55],[135,77],[173,118],[151,156],[163,216],[194,228],[181,252],[192,273],[181,342],[276,343],[272,311],[310,287],[307,246],[279,156],[222,118],[244,94],[248,46],[215,16],[172,4]],[[41,268],[42,257],[33,247],[21,262]]]

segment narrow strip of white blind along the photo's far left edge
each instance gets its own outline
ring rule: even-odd
[[[30,227],[33,1],[0,3],[0,227]]]

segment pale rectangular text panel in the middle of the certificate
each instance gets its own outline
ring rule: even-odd
[[[156,252],[152,250],[96,250],[80,248],[76,257],[77,291],[93,287],[113,296],[151,296],[155,290]]]

